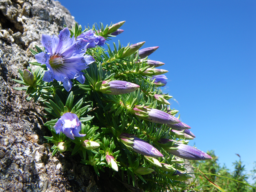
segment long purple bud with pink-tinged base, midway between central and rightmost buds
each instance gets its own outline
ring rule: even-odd
[[[176,117],[154,108],[149,109],[146,107],[141,108],[140,106],[135,106],[135,108],[130,111],[139,118],[154,123],[167,124],[169,126],[180,122]]]

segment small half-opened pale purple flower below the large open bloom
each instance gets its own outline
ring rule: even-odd
[[[65,113],[54,125],[57,134],[64,133],[68,138],[75,139],[74,137],[83,137],[86,134],[80,134],[82,130],[81,122],[78,116],[74,113]]]

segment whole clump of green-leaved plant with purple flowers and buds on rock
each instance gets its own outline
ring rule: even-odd
[[[148,59],[158,47],[140,49],[145,42],[128,46],[110,40],[124,30],[123,22],[82,31],[76,24],[60,34],[42,34],[42,46],[31,50],[34,72],[20,72],[27,100],[44,104],[52,136],[52,155],[80,156],[96,174],[110,172],[122,182],[145,191],[178,189],[190,176],[184,159],[211,159],[188,146],[194,139],[190,126],[175,117],[172,98],[162,93],[168,72]],[[102,46],[107,47],[107,49]]]

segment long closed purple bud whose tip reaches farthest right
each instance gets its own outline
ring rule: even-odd
[[[194,147],[191,147],[189,145],[175,143],[174,146],[167,146],[165,145],[168,142],[174,142],[174,140],[169,139],[160,139],[158,140],[160,144],[163,144],[162,147],[169,152],[170,154],[173,154],[177,157],[188,159],[188,160],[207,160],[212,159],[210,155],[208,155],[205,152],[200,151],[199,149],[196,149]],[[177,148],[177,149],[172,149]]]

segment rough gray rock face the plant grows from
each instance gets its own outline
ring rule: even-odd
[[[40,45],[41,34],[57,34],[63,24],[74,23],[58,1],[0,1],[0,191],[100,191],[90,166],[63,154],[52,157],[44,144],[50,133],[42,106],[13,89],[20,85],[12,78],[34,60],[29,48]]]

